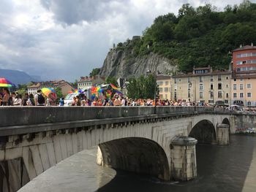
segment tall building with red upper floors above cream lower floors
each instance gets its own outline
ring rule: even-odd
[[[233,50],[231,64],[231,104],[256,107],[256,46]]]

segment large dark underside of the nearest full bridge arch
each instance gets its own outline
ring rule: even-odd
[[[114,139],[99,144],[99,149],[102,153],[102,166],[170,180],[167,155],[162,147],[151,139]]]

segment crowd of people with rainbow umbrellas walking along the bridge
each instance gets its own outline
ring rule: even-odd
[[[157,106],[195,106],[203,105],[195,102],[172,101],[157,99]],[[19,93],[10,93],[8,88],[3,88],[0,91],[0,106],[64,106],[64,98],[56,99],[53,93],[45,96],[41,90],[38,90],[35,95],[25,93],[21,96]],[[74,96],[72,102],[66,104],[69,106],[155,106],[154,99],[129,99],[124,96],[115,94],[113,98],[105,96],[103,98],[88,99],[84,94]],[[208,106],[208,104],[204,104]]]

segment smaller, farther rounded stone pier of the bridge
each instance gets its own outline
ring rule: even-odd
[[[230,133],[227,124],[217,125],[217,144],[218,145],[229,145],[230,144]]]

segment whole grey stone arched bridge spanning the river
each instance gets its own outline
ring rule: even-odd
[[[102,166],[190,180],[195,144],[227,145],[236,116],[211,107],[1,107],[0,191],[96,145]]]

